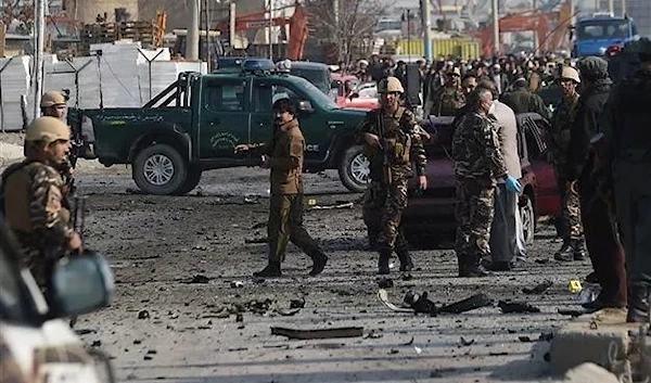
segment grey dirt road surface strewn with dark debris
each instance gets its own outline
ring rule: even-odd
[[[486,279],[456,278],[449,248],[414,250],[411,276],[397,265],[387,289],[399,304],[408,291],[429,292],[442,304],[483,292],[527,301],[534,314],[485,307],[459,315],[400,314],[376,297],[376,255],[367,250],[359,194],[335,174],[308,175],[305,225],[330,261],[307,277],[309,259],[291,247],[283,278],[254,281],[266,264],[267,173],[238,168],[204,174],[188,196],[133,193],[127,168],[80,170],[88,195],[85,241],[110,259],[116,278],[113,304],[84,316],[76,330],[89,347],[113,359],[128,382],[537,382],[547,380],[551,332],[569,319],[571,278],[587,263],[544,263],[560,246],[541,226],[525,271]],[[444,246],[445,247],[445,246]],[[551,281],[541,294],[523,288]],[[304,303],[304,304],[303,304]],[[296,341],[271,327],[362,327],[349,339]]]

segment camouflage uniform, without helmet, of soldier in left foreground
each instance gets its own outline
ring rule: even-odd
[[[52,166],[33,159],[10,166],[2,180],[8,226],[21,244],[25,266],[47,290],[51,268],[75,233],[64,207],[64,182]]]

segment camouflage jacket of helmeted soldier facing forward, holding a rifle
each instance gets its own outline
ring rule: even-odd
[[[380,135],[379,118],[384,118],[384,137]],[[425,149],[421,135],[424,130],[416,122],[416,115],[404,106],[393,115],[386,115],[381,110],[367,113],[359,125],[356,142],[365,145],[365,154],[371,162],[371,180],[382,181],[384,175],[384,152],[366,144],[365,133],[380,136],[383,150],[386,152],[388,168],[393,179],[405,179],[413,175],[411,163],[416,164],[416,174],[425,175]]]

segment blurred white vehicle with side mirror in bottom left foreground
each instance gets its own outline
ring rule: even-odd
[[[63,259],[52,284],[48,306],[0,224],[0,383],[113,382],[108,359],[87,352],[61,319],[108,304],[114,288],[108,264],[93,254]]]

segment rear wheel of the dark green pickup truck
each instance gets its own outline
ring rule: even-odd
[[[141,150],[133,159],[133,180],[149,194],[179,193],[188,177],[188,166],[179,152],[166,144],[154,144]]]

